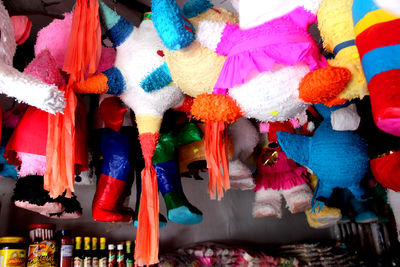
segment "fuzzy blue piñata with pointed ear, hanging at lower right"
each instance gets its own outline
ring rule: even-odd
[[[316,105],[324,120],[311,137],[277,133],[286,155],[309,167],[319,178],[312,201],[314,208],[322,204],[320,201],[326,202],[335,188],[349,189],[358,200],[365,193],[360,183],[369,170],[367,144],[355,132],[335,131],[331,124],[331,113],[346,106]]]

